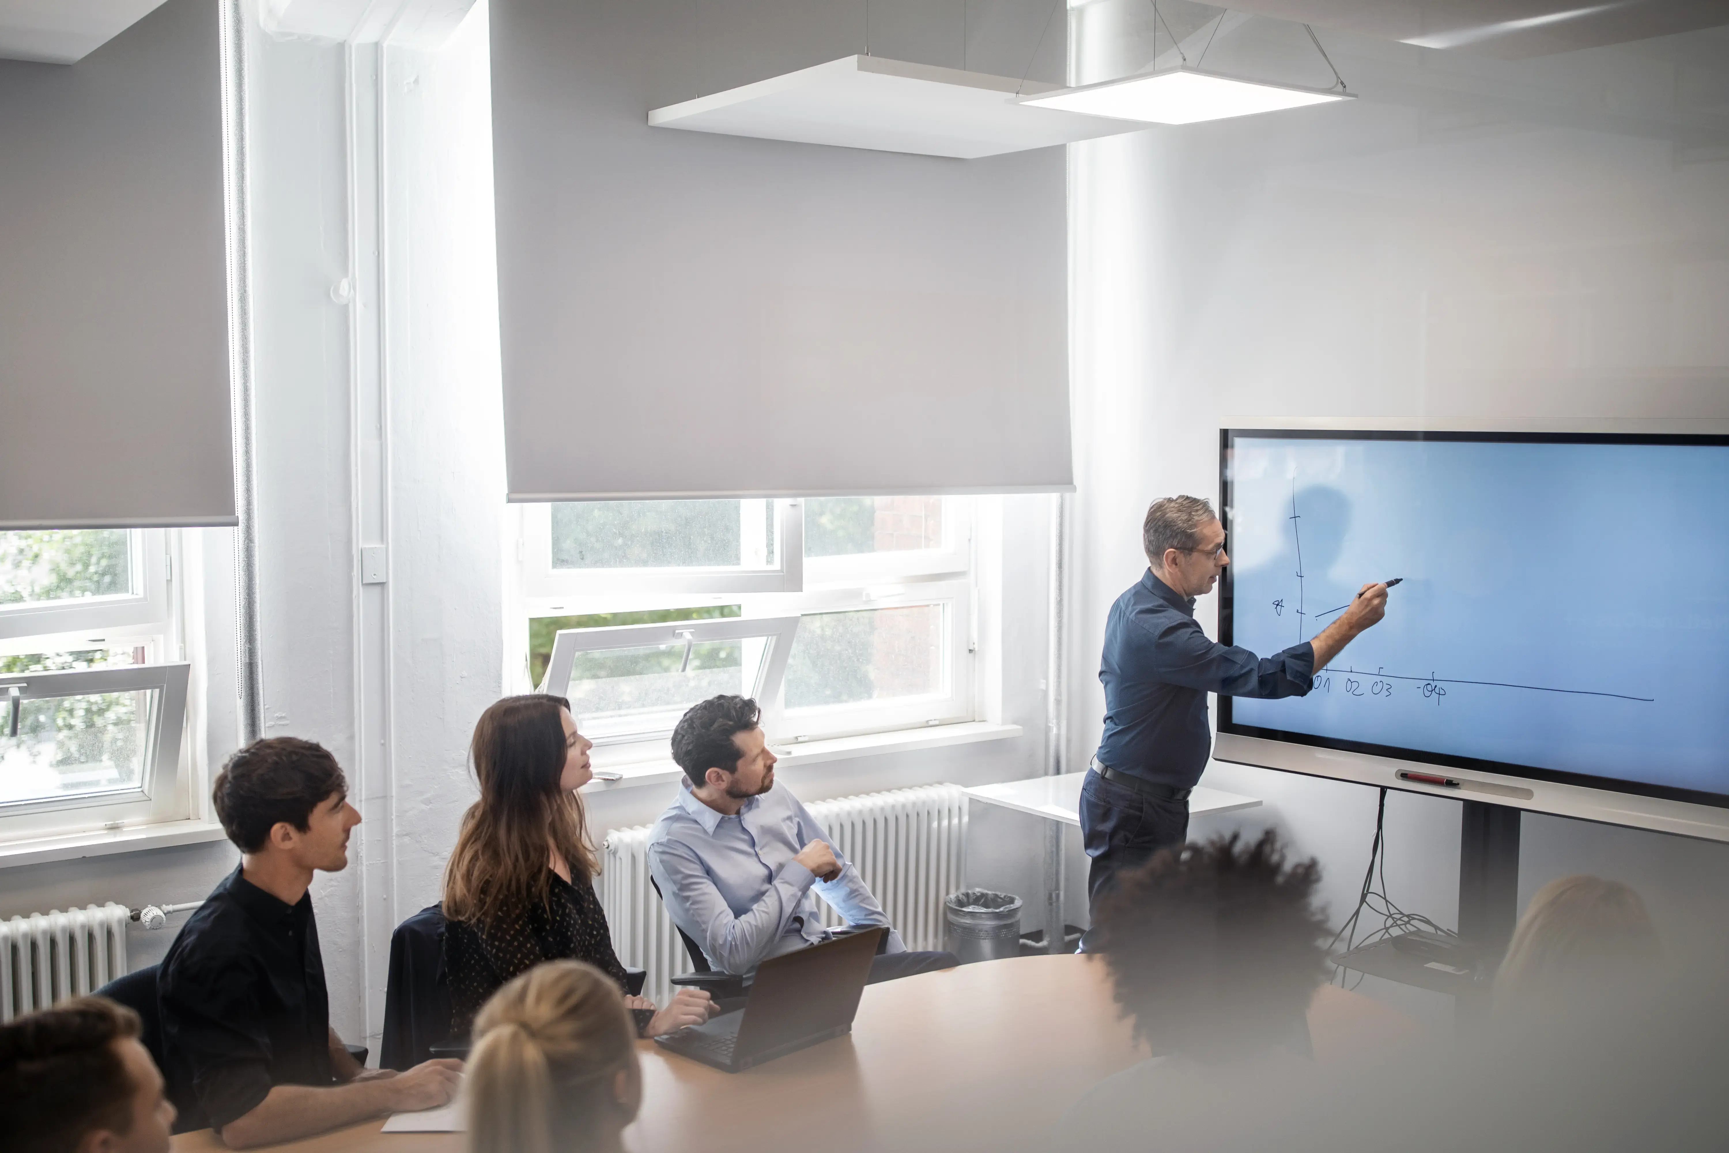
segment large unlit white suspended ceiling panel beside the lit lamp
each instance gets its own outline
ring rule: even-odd
[[[1018,104],[1055,85],[849,55],[648,112],[655,128],[977,159],[1143,124]]]

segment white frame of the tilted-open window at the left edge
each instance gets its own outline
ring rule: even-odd
[[[182,771],[180,745],[190,674],[190,664],[175,662],[0,676],[0,731],[7,733],[14,688],[19,702],[159,690],[149,721],[150,755],[137,788],[0,804],[0,838],[19,840],[69,828],[154,825],[185,818],[192,809],[192,797],[188,774]]]

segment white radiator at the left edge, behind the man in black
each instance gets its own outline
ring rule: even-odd
[[[126,971],[131,911],[109,902],[0,921],[0,1022],[95,992]]]

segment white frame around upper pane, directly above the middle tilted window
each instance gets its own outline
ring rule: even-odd
[[[555,615],[550,610],[562,607],[564,602],[609,593],[707,596],[797,593],[804,588],[804,512],[795,500],[775,501],[780,564],[773,569],[553,569],[552,505],[520,505],[520,510],[522,593],[531,615]]]

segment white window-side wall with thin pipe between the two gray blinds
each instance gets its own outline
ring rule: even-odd
[[[382,55],[249,28],[265,733],[329,747],[365,818],[351,868],[313,887],[332,1022],[349,1039],[375,1041],[382,1023],[389,928],[437,899],[474,797],[467,738],[503,683],[484,21],[481,3],[444,48]],[[991,719],[1025,735],[788,769],[802,797],[1043,768],[1050,498],[1005,498],[986,520],[1001,541],[982,576],[996,589]],[[363,586],[360,548],[379,543],[389,581]],[[214,539],[213,764],[235,747],[228,564]],[[671,790],[597,790],[591,831],[652,821]],[[977,878],[1030,895],[1034,831],[986,840]],[[195,901],[233,861],[214,844],[10,870],[0,916]],[[133,952],[152,961],[169,939],[133,933]]]

